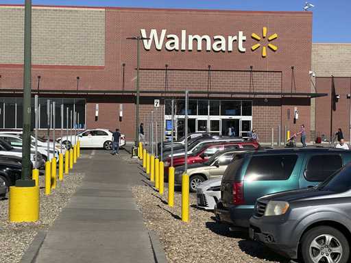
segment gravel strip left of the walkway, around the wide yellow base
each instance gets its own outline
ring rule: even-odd
[[[69,201],[77,186],[82,184],[82,173],[71,173],[58,181],[51,195],[40,189],[40,221],[36,223],[9,223],[8,199],[0,200],[0,262],[16,263],[22,258],[32,240],[40,230],[47,230]],[[44,186],[44,176],[40,176],[40,186]]]

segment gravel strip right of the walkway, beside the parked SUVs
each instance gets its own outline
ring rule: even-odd
[[[132,188],[147,229],[160,237],[169,262],[289,262],[263,245],[249,240],[247,234],[230,232],[216,223],[213,212],[195,208],[191,195],[190,222],[181,216],[181,194],[175,192],[175,205],[167,205],[167,189],[161,197],[151,186]]]

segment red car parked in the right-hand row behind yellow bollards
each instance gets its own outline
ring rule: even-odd
[[[260,147],[258,142],[213,142],[208,145],[204,145],[199,149],[195,149],[193,153],[188,155],[188,164],[196,164],[206,162],[208,158],[214,155],[217,151],[223,151],[226,149],[232,148],[250,148],[250,149],[257,149]],[[185,163],[185,156],[177,156],[173,158],[173,167],[184,165]],[[171,158],[165,159],[165,175],[168,178],[168,169],[171,165]]]

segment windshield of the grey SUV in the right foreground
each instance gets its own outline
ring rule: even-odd
[[[317,190],[345,192],[351,188],[351,164],[343,166],[317,186]]]

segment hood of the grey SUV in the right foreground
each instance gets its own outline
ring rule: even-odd
[[[302,201],[307,199],[315,199],[322,195],[332,195],[334,192],[320,191],[315,188],[303,188],[298,190],[291,190],[285,192],[277,192],[275,194],[266,195],[258,199],[258,201],[267,203],[268,201]]]

